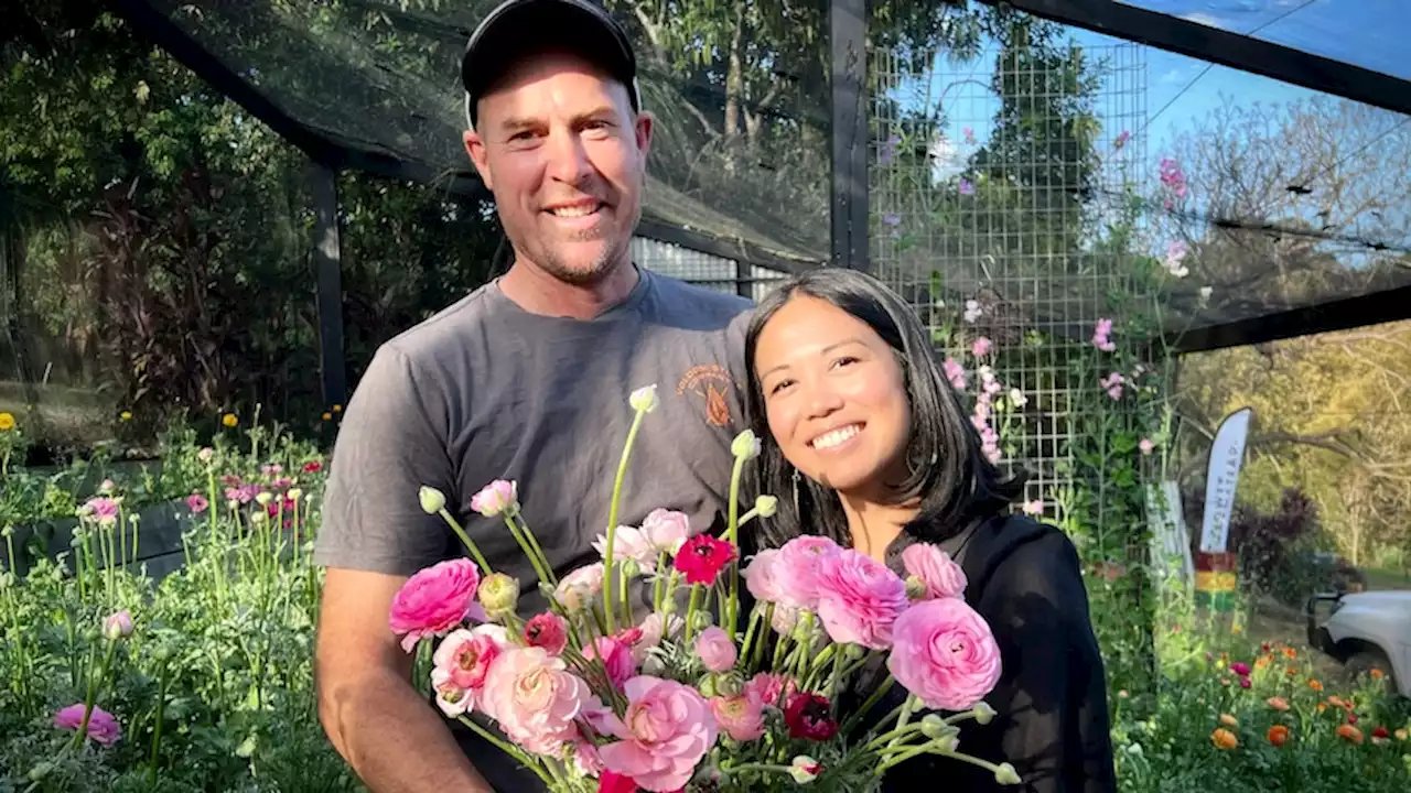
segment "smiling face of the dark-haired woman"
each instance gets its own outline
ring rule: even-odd
[[[753,374],[769,433],[796,468],[840,492],[897,478],[910,404],[892,347],[868,323],[794,296],[759,333]]]

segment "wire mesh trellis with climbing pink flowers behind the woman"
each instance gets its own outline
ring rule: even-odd
[[[1105,481],[1082,483],[1096,491],[1085,519],[1068,512],[1092,450],[1075,440],[1122,425],[1151,377],[1094,365],[1137,350],[1099,320],[1140,298],[1133,272],[1160,248],[1132,200],[1146,188],[1144,51],[1029,32],[972,58],[873,54],[871,260],[931,327],[988,453],[1030,474],[1024,511],[1068,528],[1089,570],[1120,570],[1141,529],[1112,514]]]

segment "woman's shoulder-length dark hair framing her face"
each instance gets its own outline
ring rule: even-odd
[[[769,433],[765,394],[755,374],[755,347],[765,325],[790,299],[807,295],[832,303],[865,322],[896,353],[912,409],[907,477],[896,484],[897,501],[920,498],[920,511],[904,528],[919,539],[940,540],[971,521],[1005,511],[1023,494],[1024,476],[1005,477],[981,450],[959,395],[941,373],[930,333],[910,306],[885,284],[856,270],[825,267],[785,281],[755,308],[745,334],[745,415],[759,437],[761,454],[751,466],[755,494],[779,498],[779,511],[759,521],[751,545],[777,547],[806,533],[821,533],[851,546],[848,521],[837,492],[799,476]],[[933,463],[934,460],[934,463]]]

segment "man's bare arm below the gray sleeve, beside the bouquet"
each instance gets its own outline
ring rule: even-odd
[[[319,720],[375,793],[494,793],[440,714],[412,687],[412,655],[387,624],[405,580],[327,570],[315,650]]]

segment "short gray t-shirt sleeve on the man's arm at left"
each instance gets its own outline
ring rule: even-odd
[[[440,394],[402,351],[378,349],[333,446],[316,564],[411,576],[444,559],[450,529],[418,497],[429,485],[454,502]]]

